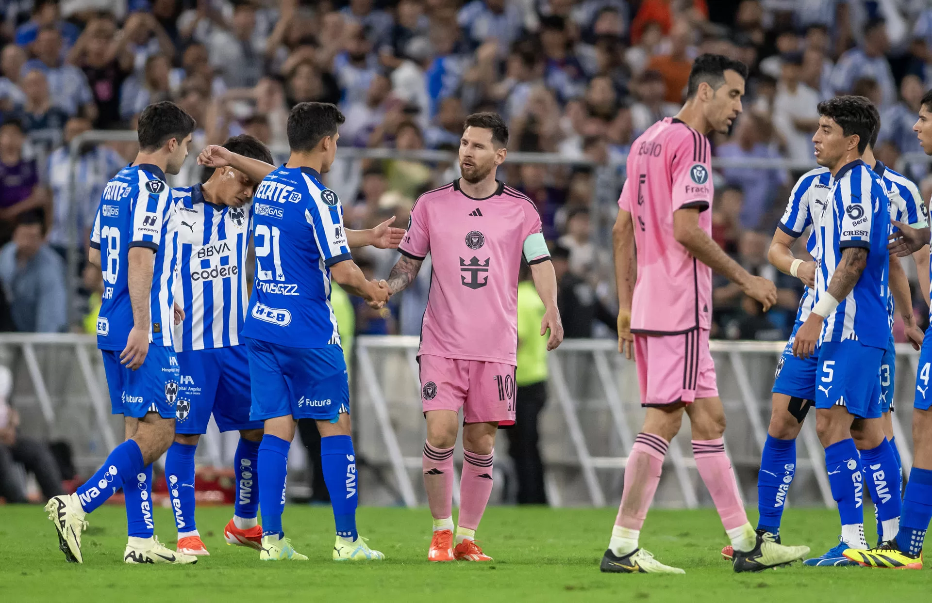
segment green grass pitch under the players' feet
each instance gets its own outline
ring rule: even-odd
[[[287,535],[305,562],[261,563],[251,549],[227,546],[230,507],[203,507],[198,526],[211,556],[196,566],[122,563],[126,517],[106,505],[89,516],[84,565],[67,564],[51,522],[39,506],[0,506],[0,601],[817,601],[928,600],[923,571],[790,568],[734,574],[720,559],[726,544],[714,510],[653,511],[641,543],[684,576],[603,574],[598,561],[614,509],[490,507],[479,538],[495,557],[487,564],[431,564],[426,509],[364,507],[359,525],[387,559],[337,564],[330,559],[328,507],[289,505]],[[156,532],[174,545],[168,509],[157,509]],[[873,525],[873,517],[867,518]],[[752,519],[753,521],[753,519]],[[824,509],[788,509],[783,537],[821,554],[837,543],[838,516]],[[872,538],[873,530],[869,528]],[[907,600],[910,600],[907,599]]]

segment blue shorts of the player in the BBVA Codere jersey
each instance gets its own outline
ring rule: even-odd
[[[213,420],[222,432],[262,429],[251,421],[253,405],[249,387],[249,357],[245,345],[191,350],[178,353],[181,387],[175,409],[175,433],[207,433]]]

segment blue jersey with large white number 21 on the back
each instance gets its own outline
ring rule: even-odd
[[[311,168],[282,166],[253,197],[255,280],[242,336],[290,347],[339,345],[330,266],[350,260],[343,207]]]

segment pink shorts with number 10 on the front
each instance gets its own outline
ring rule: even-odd
[[[514,424],[514,367],[421,355],[420,401],[428,410],[463,409],[463,422]]]

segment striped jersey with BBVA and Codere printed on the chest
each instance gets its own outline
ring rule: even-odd
[[[240,344],[249,303],[246,253],[251,204],[215,206],[200,184],[171,189],[178,214],[178,285],[175,300],[185,320],[175,326],[176,352]]]

